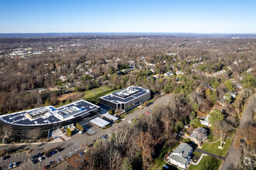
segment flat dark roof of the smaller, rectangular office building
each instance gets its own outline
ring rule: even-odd
[[[113,103],[126,103],[130,100],[133,100],[137,97],[143,96],[146,93],[149,93],[150,90],[144,89],[143,87],[127,87],[123,90],[116,91],[114,93],[110,93],[104,97],[100,97],[104,100],[109,100]]]

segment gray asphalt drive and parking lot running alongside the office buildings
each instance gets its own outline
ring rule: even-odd
[[[67,141],[61,141],[57,143],[42,143],[40,145],[31,145],[31,144],[19,145],[19,148],[29,148],[29,149],[33,149],[33,151],[29,155],[26,155],[25,152],[24,154],[19,153],[16,155],[12,155],[12,157],[9,158],[8,160],[0,161],[0,166],[8,167],[9,163],[21,162],[21,166],[19,166],[19,168],[17,169],[24,169],[24,170],[43,169],[44,165],[49,165],[50,162],[56,161],[56,159],[59,158],[60,156],[64,157],[64,155],[69,155],[70,152],[74,153],[74,151],[77,150],[78,148],[81,148],[82,145],[92,144],[93,141],[95,141],[97,138],[102,137],[103,134],[108,134],[113,131],[118,131],[119,128],[122,128],[124,125],[130,124],[128,123],[128,121],[131,121],[133,118],[139,117],[140,114],[146,114],[145,113],[146,111],[153,109],[156,105],[162,106],[164,104],[168,104],[170,97],[171,97],[171,94],[157,98],[157,100],[154,100],[154,103],[151,104],[150,106],[145,107],[143,110],[133,111],[133,113],[126,115],[123,121],[119,122],[118,124],[116,123],[112,124],[112,127],[106,130],[102,130],[101,128],[96,128],[95,126],[92,126],[91,129],[96,132],[96,134],[92,136],[88,136],[87,134],[74,134],[72,138]],[[149,111],[149,114],[150,114],[150,111]],[[9,148],[13,146],[14,145],[12,146],[1,145],[0,149]],[[42,162],[38,162],[36,164],[33,164],[31,162],[30,155],[37,155],[39,152],[42,153],[44,151],[49,150],[50,148],[57,148],[57,147],[64,147],[64,151],[57,152],[55,155],[52,155],[50,158],[46,158],[45,155],[43,155],[45,159],[43,159]]]

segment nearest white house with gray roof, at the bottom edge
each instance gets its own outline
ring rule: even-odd
[[[173,151],[167,158],[164,159],[169,165],[175,165],[178,168],[186,169],[189,167],[191,162],[191,156],[193,148],[186,144],[182,143]]]

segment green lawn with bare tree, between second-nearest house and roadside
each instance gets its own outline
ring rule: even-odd
[[[220,156],[226,157],[227,151],[230,148],[231,141],[232,141],[232,139],[227,138],[226,144],[223,145],[223,149],[218,148],[218,146],[220,146],[220,141],[217,141],[213,144],[204,143],[202,145],[202,150],[208,151],[215,155],[220,155]]]

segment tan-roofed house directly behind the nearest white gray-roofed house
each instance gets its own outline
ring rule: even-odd
[[[189,138],[191,141],[194,141],[196,145],[202,145],[207,138],[207,130],[205,128],[196,128],[192,134],[190,134]]]

